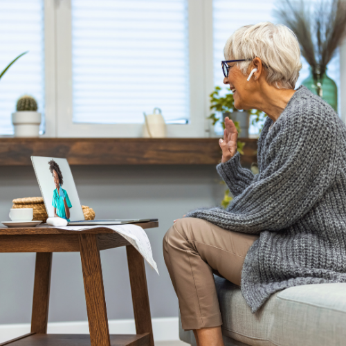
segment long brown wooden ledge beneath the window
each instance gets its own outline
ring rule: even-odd
[[[256,162],[257,139],[242,164]],[[30,156],[67,158],[70,165],[217,165],[219,138],[0,138],[0,165],[31,165]]]

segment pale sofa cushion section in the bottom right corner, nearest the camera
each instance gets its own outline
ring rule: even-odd
[[[277,295],[270,336],[274,345],[341,346],[345,326],[346,284],[295,286]]]

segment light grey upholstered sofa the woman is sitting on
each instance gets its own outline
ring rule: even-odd
[[[251,313],[238,286],[215,275],[222,332],[253,346],[346,345],[346,284],[310,284],[277,292]]]

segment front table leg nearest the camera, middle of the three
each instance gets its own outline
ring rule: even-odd
[[[82,260],[91,346],[110,346],[97,235],[80,235],[80,258]]]

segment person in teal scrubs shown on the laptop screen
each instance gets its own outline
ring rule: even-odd
[[[49,161],[48,165],[49,170],[53,174],[55,184],[52,203],[54,207],[54,217],[62,217],[62,219],[70,221],[70,208],[72,208],[72,204],[69,199],[69,194],[62,188],[62,184],[64,183],[62,171],[54,160]]]

